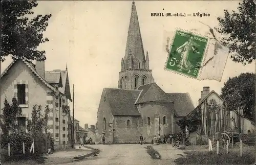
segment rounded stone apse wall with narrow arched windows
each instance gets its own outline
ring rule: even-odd
[[[172,133],[172,113],[174,112],[173,102],[148,102],[138,105],[143,119],[143,137],[146,142],[151,142],[154,135]],[[165,124],[163,123],[165,116]],[[148,124],[150,117],[150,124]],[[157,123],[155,123],[157,121]],[[157,129],[158,128],[158,129]]]

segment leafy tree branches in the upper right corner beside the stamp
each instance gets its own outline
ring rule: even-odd
[[[215,28],[219,33],[229,35],[223,37],[221,42],[233,53],[234,62],[244,65],[255,59],[255,4],[253,0],[244,0],[239,3],[238,12],[229,13],[224,10],[224,18],[218,17],[220,28]]]

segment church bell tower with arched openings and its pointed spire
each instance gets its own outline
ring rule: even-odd
[[[154,82],[149,62],[147,51],[145,57],[138,15],[133,2],[125,55],[121,59],[118,88],[138,89],[140,85]]]

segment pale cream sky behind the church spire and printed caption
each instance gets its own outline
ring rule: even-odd
[[[164,70],[166,53],[163,32],[174,30],[187,17],[152,17],[156,12],[209,13],[209,17],[193,17],[211,27],[218,26],[217,17],[224,9],[236,10],[240,1],[135,1],[144,51],[148,51],[150,69],[155,82],[167,93],[188,92],[195,106],[203,86],[221,94],[229,77],[254,72],[255,64],[243,65],[227,59],[221,82],[195,80]],[[95,125],[104,87],[117,88],[121,58],[125,45],[132,1],[38,1],[35,14],[52,14],[44,37],[49,42],[38,49],[46,51],[46,70],[65,69],[68,64],[71,92],[75,85],[75,118],[80,125]],[[164,9],[164,10],[163,10]],[[1,63],[1,73],[11,62]],[[72,103],[70,103],[72,108]]]

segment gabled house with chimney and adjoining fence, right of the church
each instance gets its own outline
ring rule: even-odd
[[[212,106],[213,102],[217,104],[216,108]],[[213,132],[223,132],[234,129],[240,129],[241,133],[254,132],[255,126],[253,122],[243,116],[243,111],[226,111],[223,107],[224,100],[214,90],[210,91],[210,87],[205,86],[201,91],[201,98],[198,106],[191,111],[187,116],[192,115],[196,110],[201,110],[202,121],[196,132],[190,133],[189,136],[209,135],[209,130],[212,127]],[[214,114],[207,115],[209,109],[214,111]],[[214,109],[213,109],[214,108]],[[207,116],[213,121],[212,125],[207,124]]]

